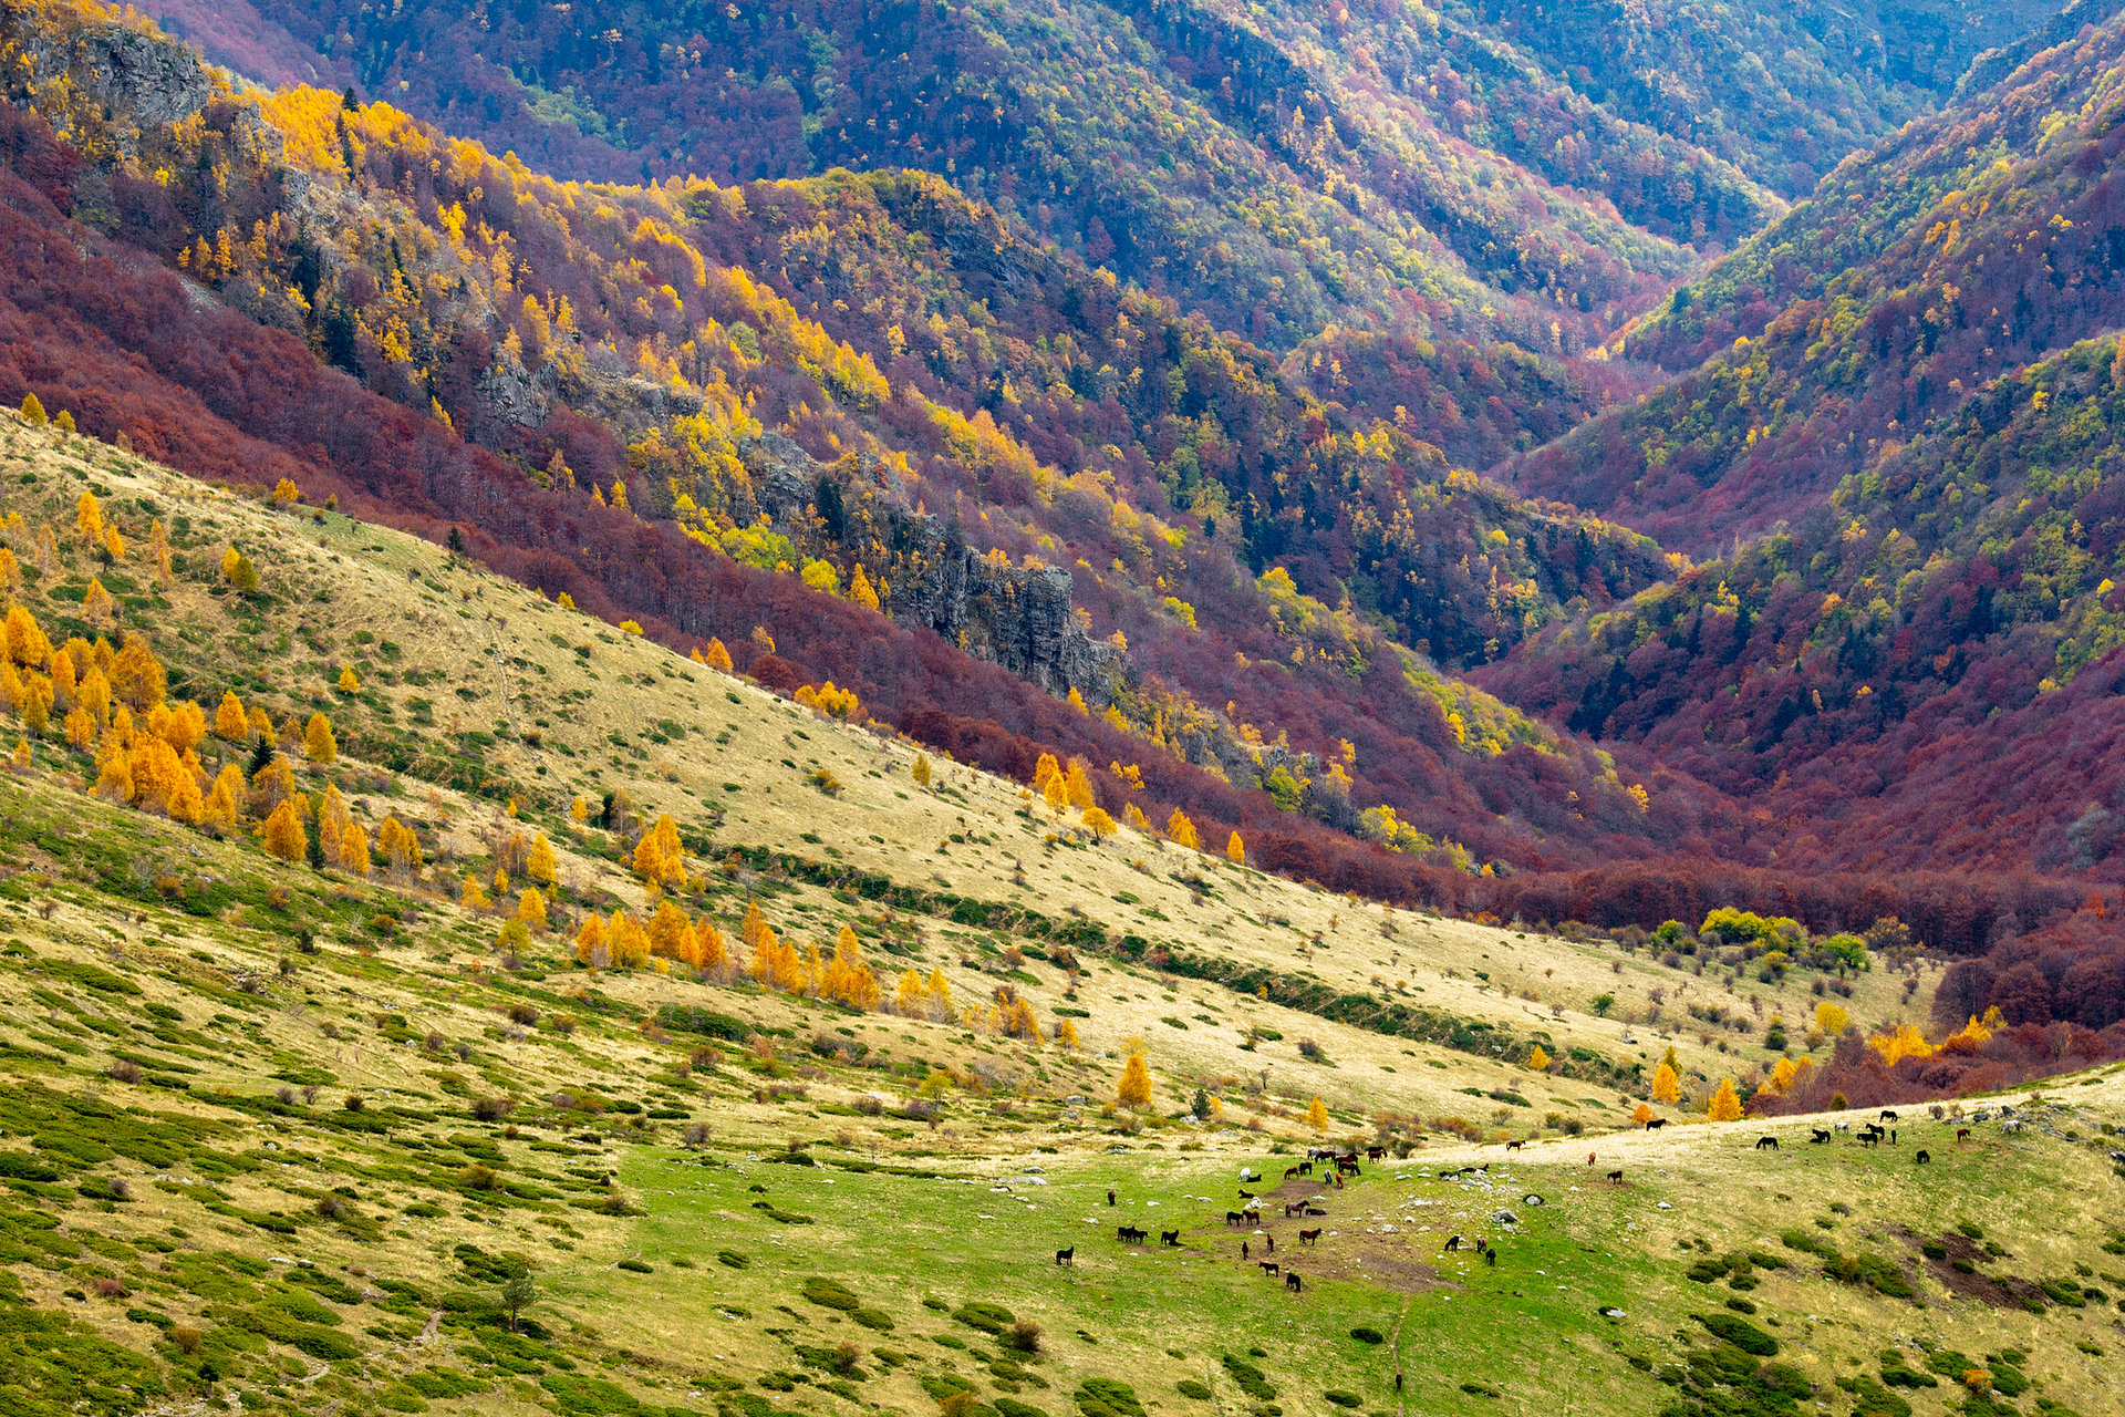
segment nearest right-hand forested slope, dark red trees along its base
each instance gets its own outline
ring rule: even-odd
[[[1974,391],[1791,533],[1492,686],[1764,801],[1789,858],[2119,880],[2116,359],[2091,340]]]

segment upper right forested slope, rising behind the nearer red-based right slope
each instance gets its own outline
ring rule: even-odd
[[[1704,554],[2114,321],[2121,28],[1847,161],[1619,348],[1687,370],[1513,482]]]

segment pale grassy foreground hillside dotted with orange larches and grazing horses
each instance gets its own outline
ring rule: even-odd
[[[32,746],[0,771],[11,1411],[1103,1417],[1402,1392],[1481,1413],[1541,1381],[1621,1417],[1938,1372],[2057,1415],[2048,1394],[2091,1413],[2076,1394],[2112,1385],[2087,1334],[2125,1241],[2059,1215],[2114,1209],[2114,1069],[1983,1094],[2029,1075],[2040,1028],[1974,1045],[1991,1081],[1908,1109],[1898,1147],[1706,1122],[1721,1081],[1783,1058],[1708,939],[1694,975],[1101,839],[287,489],[13,416],[0,448],[6,671],[72,684],[64,729],[6,710]],[[100,633],[123,637],[110,680]],[[55,663],[76,654],[79,678]],[[278,752],[244,741],[255,720],[206,727],[221,693]],[[206,801],[242,820],[187,822],[196,778],[144,771],[164,754],[232,769],[242,795]],[[280,799],[306,837],[298,797],[317,865],[259,831]],[[657,954],[578,945],[593,911],[614,939],[648,922]],[[793,977],[731,969],[784,943]],[[1800,1020],[1836,986],[1859,1028],[1787,1039],[1821,1071],[1927,1009],[1932,971],[1813,958],[1745,988]],[[892,1011],[835,996],[858,969]],[[1689,1103],[1640,1132],[1668,1045]],[[1107,1107],[1137,1049],[1152,1098]],[[1853,1096],[1902,1100],[1917,1062],[1853,1066]],[[1324,1141],[1381,1156],[1277,1175]],[[1235,1177],[1258,1228],[1226,1224]],[[1256,1268],[1271,1253],[1298,1285]],[[1885,1353],[1915,1315],[1923,1341]]]

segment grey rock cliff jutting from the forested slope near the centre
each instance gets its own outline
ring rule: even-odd
[[[1075,688],[1088,703],[1114,699],[1122,656],[1077,622],[1069,571],[984,557],[958,525],[905,510],[882,467],[865,463],[854,476],[846,465],[824,467],[782,433],[740,450],[761,510],[799,542],[824,533],[837,550],[856,550],[848,542],[869,537],[852,533],[842,508],[869,506],[871,535],[890,554],[886,610],[901,625],[933,629],[1052,695]],[[856,486],[865,476],[871,484]]]

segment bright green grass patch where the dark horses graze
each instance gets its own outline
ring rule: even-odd
[[[1500,1239],[1507,1262],[1498,1270],[1449,1256],[1441,1266],[1445,1283],[1426,1283],[1417,1294],[1309,1277],[1303,1296],[1292,1296],[1254,1264],[1239,1262],[1243,1232],[1224,1226],[1222,1200],[1194,1200],[1230,1194],[1241,1164],[1266,1168],[1271,1160],[1235,1154],[1213,1160],[1041,1156],[1048,1185],[1033,1185],[1016,1164],[1005,1162],[924,1181],[842,1168],[795,1171],[744,1158],[706,1162],[691,1154],[640,1149],[625,1168],[625,1181],[650,1213],[635,1222],[629,1243],[642,1253],[693,1258],[703,1268],[729,1245],[750,1253],[752,1264],[742,1273],[725,1270],[706,1285],[672,1285],[654,1307],[657,1332],[669,1328],[680,1341],[691,1332],[708,1334],[714,1351],[746,1353],[761,1364],[778,1362],[778,1353],[786,1362],[790,1343],[863,1336],[861,1330],[850,1332],[833,1309],[793,1302],[808,1283],[822,1290],[820,1279],[888,1311],[897,1324],[895,1343],[916,1355],[914,1372],[935,1375],[952,1364],[965,1368],[952,1349],[939,1351],[935,1338],[965,1338],[967,1328],[950,1313],[924,1311],[912,1296],[941,1298],[950,1311],[1001,1304],[1014,1317],[1041,1326],[1043,1351],[1028,1370],[1054,1392],[1020,1392],[1018,1400],[1052,1413],[1067,1413],[1062,1389],[1096,1377],[1126,1379],[1145,1394],[1205,1383],[1237,1398],[1232,1377],[1218,1360],[1239,1336],[1247,1338],[1241,1353],[1250,1345],[1266,1349],[1269,1355],[1254,1364],[1292,1400],[1337,1389],[1360,1396],[1373,1409],[1392,1409],[1394,1349],[1354,1338],[1352,1330],[1388,1334],[1398,1324],[1405,1394],[1413,1404],[1422,1402],[1422,1411],[1492,1411],[1483,1406],[1488,1398],[1460,1389],[1470,1375],[1494,1385],[1545,1375],[1590,1398],[1598,1394],[1615,1411],[1655,1402],[1658,1385],[1649,1377],[1606,1355],[1619,1326],[1598,1313],[1634,1302],[1655,1266],[1632,1251],[1590,1245],[1606,1228],[1602,1209],[1528,1209],[1517,1194],[1485,1200],[1490,1207],[1511,1202],[1526,1222],[1517,1234]],[[1396,1181],[1396,1175],[1411,1179]],[[965,1183],[969,1179],[975,1183]],[[1012,1194],[994,1192],[990,1181],[997,1179],[1009,1181]],[[816,1226],[795,1232],[744,1219],[756,1200],[752,1185],[767,1185],[776,1205],[803,1207]],[[1111,1209],[1105,1198],[1109,1188],[1122,1196],[1122,1205]],[[1337,1192],[1330,1207],[1337,1215],[1371,1213],[1377,1205],[1409,1198],[1432,1205],[1400,1213],[1424,1217],[1456,1205],[1462,1213],[1488,1215],[1468,1202],[1466,1192],[1422,1171],[1373,1171]],[[733,1224],[722,1215],[740,1219]],[[1120,1245],[1114,1236],[1120,1224],[1150,1230],[1150,1243]],[[1284,1234],[1277,1253],[1307,1277],[1313,1266],[1309,1251],[1296,1247],[1296,1224],[1275,1222]],[[1498,1234],[1488,1219],[1445,1224],[1468,1234]],[[1171,1228],[1182,1230],[1179,1249],[1158,1243],[1158,1232]],[[1260,1256],[1260,1236],[1250,1239]],[[1405,1264],[1430,1262],[1443,1243],[1436,1230],[1381,1239],[1407,1243],[1407,1249],[1383,1249]],[[1054,1264],[1054,1251],[1062,1247],[1075,1247],[1073,1266]],[[578,1270],[555,1283],[589,1298],[604,1281]],[[801,1317],[733,1321],[725,1317],[729,1304],[754,1315],[788,1304]],[[971,1347],[1005,1351],[999,1338],[982,1338],[980,1330]],[[1186,1358],[1177,1360],[1169,1349]],[[1602,1353],[1600,1362],[1592,1360],[1594,1353]],[[882,1389],[878,1400],[924,1402],[916,1379],[905,1372],[878,1372],[867,1392],[873,1387]],[[1313,1411],[1313,1402],[1305,1400],[1298,1409],[1286,1404],[1286,1411]]]

